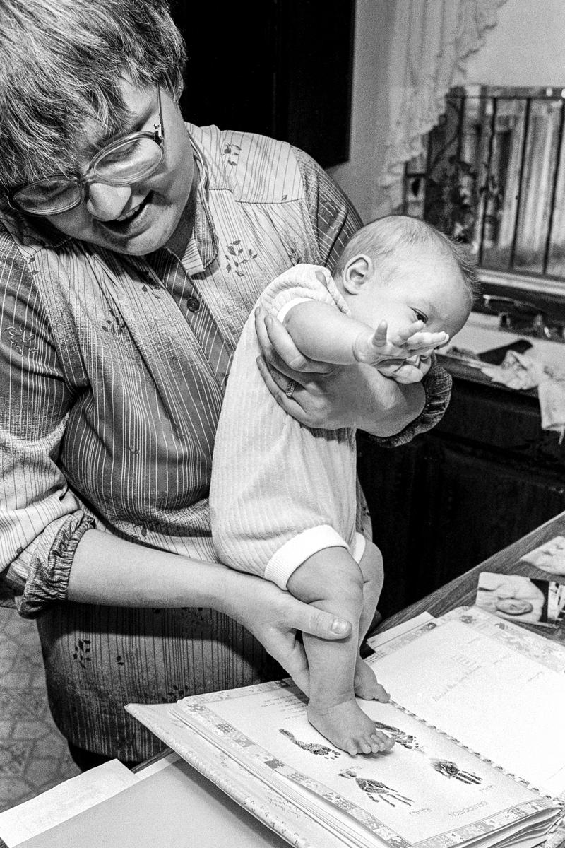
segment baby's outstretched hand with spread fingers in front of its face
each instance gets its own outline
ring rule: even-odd
[[[379,365],[382,360],[407,360],[413,356],[429,355],[449,340],[446,332],[424,332],[424,321],[414,321],[387,338],[388,325],[380,321],[374,332],[362,331],[353,344],[357,362]],[[422,377],[420,377],[422,379]]]

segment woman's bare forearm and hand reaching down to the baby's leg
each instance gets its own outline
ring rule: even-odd
[[[308,668],[296,632],[344,639],[351,622],[302,604],[269,580],[214,562],[188,560],[165,551],[88,530],[75,551],[68,599],[109,606],[207,606],[235,618],[307,692]]]

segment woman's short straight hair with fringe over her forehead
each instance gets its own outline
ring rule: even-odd
[[[185,45],[166,0],[0,0],[0,186],[71,174],[87,120],[119,131],[120,81],[180,98]]]

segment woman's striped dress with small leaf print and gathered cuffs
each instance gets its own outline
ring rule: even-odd
[[[334,264],[360,221],[288,144],[188,126],[200,184],[179,261],[80,243],[0,209],[0,575],[36,616],[53,717],[75,745],[141,760],[158,744],[128,701],[176,700],[269,674],[258,644],[208,610],[65,600],[83,533],[213,559],[208,484],[224,385],[263,287]],[[443,414],[438,366],[422,416]]]

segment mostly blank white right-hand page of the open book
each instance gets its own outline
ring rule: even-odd
[[[408,710],[547,793],[565,790],[562,674],[455,621],[369,661]]]

